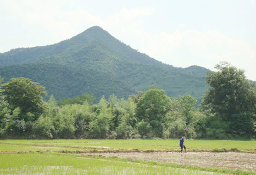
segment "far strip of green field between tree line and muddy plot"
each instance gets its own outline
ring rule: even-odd
[[[127,139],[127,140],[103,140],[103,139],[69,139],[69,140],[2,140],[0,141],[0,150],[13,151],[10,146],[4,147],[5,143],[23,144],[25,149],[37,150],[36,147],[44,150],[80,150],[83,147],[109,147],[109,148],[138,148],[138,149],[179,149],[178,139],[166,140],[143,140],[143,139]],[[187,149],[195,150],[211,150],[211,149],[231,149],[238,150],[254,150],[256,149],[256,141],[230,141],[230,140],[185,140]],[[27,144],[27,145],[26,145]],[[43,144],[42,146],[32,146],[32,144]],[[6,144],[7,145],[7,144]],[[30,147],[25,147],[31,145]],[[57,147],[45,147],[45,145]],[[3,148],[2,148],[3,147]],[[16,147],[16,146],[15,146]],[[18,147],[18,146],[17,146]],[[81,148],[74,148],[81,147]],[[22,147],[20,147],[22,148]],[[16,148],[15,148],[16,149]],[[86,148],[88,149],[88,148]]]

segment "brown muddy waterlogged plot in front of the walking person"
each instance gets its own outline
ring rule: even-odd
[[[241,152],[152,152],[152,153],[90,153],[106,157],[131,158],[145,161],[169,162],[180,165],[241,169],[256,172],[256,154]]]

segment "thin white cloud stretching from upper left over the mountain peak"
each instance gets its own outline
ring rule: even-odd
[[[123,8],[119,12],[103,19],[80,7],[73,10],[57,8],[58,3],[59,1],[4,1],[2,8],[8,11],[9,22],[12,25],[0,29],[0,32],[6,33],[8,27],[13,28],[13,25],[17,24],[22,25],[19,26],[20,28],[25,28],[27,35],[24,35],[23,31],[22,35],[25,40],[20,43],[15,42],[17,38],[14,35],[16,34],[10,35],[11,37],[3,36],[6,37],[5,41],[7,42],[5,42],[0,52],[16,47],[32,47],[56,43],[96,25],[103,27],[113,35],[117,33],[117,36],[119,36],[120,30],[124,26],[133,23],[139,24],[142,17],[153,14],[153,9],[149,8]],[[0,20],[1,18],[4,19],[3,16],[0,17]],[[140,22],[138,23],[139,20]],[[36,28],[37,31],[33,31],[33,28]],[[15,32],[17,32],[17,35],[21,34],[19,29]],[[38,40],[33,41],[31,38],[38,38]]]

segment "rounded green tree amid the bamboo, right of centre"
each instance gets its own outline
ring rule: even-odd
[[[164,90],[149,89],[139,98],[136,116],[139,121],[147,122],[152,127],[153,137],[162,137],[164,118],[170,110],[170,99]]]

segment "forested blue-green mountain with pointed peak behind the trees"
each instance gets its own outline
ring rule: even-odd
[[[93,93],[128,97],[155,84],[169,96],[189,93],[199,101],[208,89],[200,66],[176,68],[140,53],[98,26],[59,43],[0,54],[0,76],[27,77],[57,100]]]

